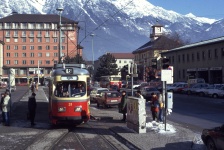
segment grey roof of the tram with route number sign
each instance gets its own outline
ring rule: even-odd
[[[85,64],[55,64],[52,75],[89,75]]]

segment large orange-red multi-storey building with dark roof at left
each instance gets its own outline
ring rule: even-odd
[[[0,19],[0,40],[4,42],[3,77],[15,69],[16,83],[27,77],[49,76],[59,60],[59,15],[13,14]],[[77,46],[77,22],[61,17],[62,56],[82,55]]]

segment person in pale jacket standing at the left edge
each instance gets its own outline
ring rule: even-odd
[[[10,96],[9,92],[5,92],[5,98],[2,103],[2,113],[5,120],[5,126],[10,125]]]

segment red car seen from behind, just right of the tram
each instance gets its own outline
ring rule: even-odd
[[[103,108],[118,105],[121,102],[121,94],[117,91],[104,91],[97,97],[97,107],[100,105]]]

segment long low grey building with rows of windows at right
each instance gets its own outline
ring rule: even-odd
[[[161,53],[174,68],[174,81],[204,78],[207,83],[224,83],[224,37],[185,45]]]

